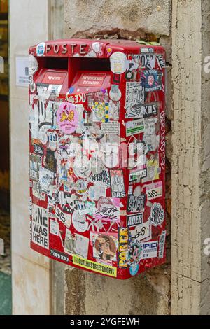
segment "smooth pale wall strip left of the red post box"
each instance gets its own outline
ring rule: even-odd
[[[48,0],[10,0],[13,314],[50,314],[50,261],[29,248],[28,90],[15,86],[15,57],[47,39]]]

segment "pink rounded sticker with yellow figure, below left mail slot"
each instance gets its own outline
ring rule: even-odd
[[[71,103],[62,103],[57,111],[57,125],[64,134],[72,134],[78,127],[78,112]]]

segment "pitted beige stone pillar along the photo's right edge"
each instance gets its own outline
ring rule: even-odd
[[[173,1],[172,314],[210,312],[209,11],[209,1]]]

